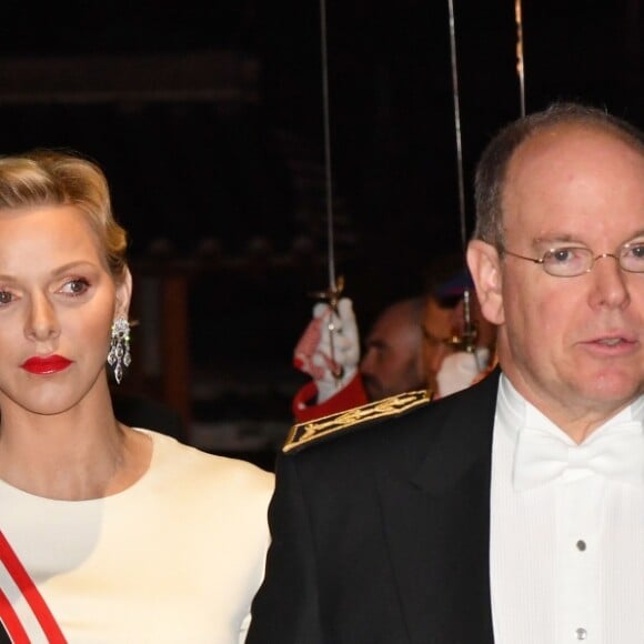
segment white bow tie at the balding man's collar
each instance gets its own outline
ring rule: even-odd
[[[630,483],[644,483],[644,431],[641,422],[624,422],[591,442],[568,445],[544,430],[523,427],[514,453],[514,489],[536,487],[568,467]]]

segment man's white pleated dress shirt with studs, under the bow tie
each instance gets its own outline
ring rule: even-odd
[[[588,442],[643,419],[640,399]],[[514,452],[526,424],[576,449],[502,376],[491,490],[496,644],[644,644],[644,486],[576,466],[515,490]]]

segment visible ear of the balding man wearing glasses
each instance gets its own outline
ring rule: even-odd
[[[492,324],[503,324],[501,258],[496,249],[484,241],[467,244],[467,266],[474,280],[476,296],[483,316]]]

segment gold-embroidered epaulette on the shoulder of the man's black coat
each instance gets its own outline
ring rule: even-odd
[[[292,454],[302,447],[316,443],[348,429],[358,429],[372,421],[398,416],[432,400],[432,392],[426,390],[410,391],[374,401],[359,407],[352,407],[314,421],[299,423],[291,427],[282,445],[284,454]]]

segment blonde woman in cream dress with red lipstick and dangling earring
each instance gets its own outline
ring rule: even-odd
[[[237,644],[273,475],[114,417],[125,245],[95,163],[0,158],[0,622],[13,642]]]

